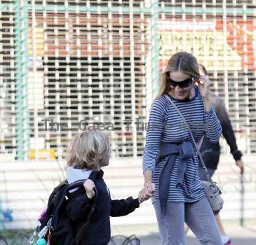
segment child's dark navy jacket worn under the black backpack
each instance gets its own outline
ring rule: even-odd
[[[126,216],[140,207],[138,199],[134,200],[133,197],[128,197],[126,200],[111,200],[107,185],[102,179],[103,174],[102,170],[100,172],[93,171],[90,172],[88,178],[95,183],[96,200],[88,199],[84,192],[73,197],[67,204],[67,216],[71,219],[72,228],[77,235],[96,201],[95,211],[91,215],[88,225],[79,235],[78,245],[107,245],[110,240],[109,216]]]

